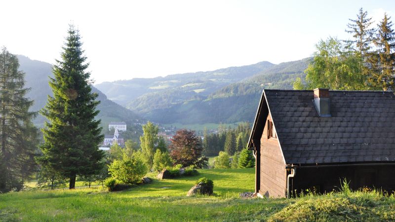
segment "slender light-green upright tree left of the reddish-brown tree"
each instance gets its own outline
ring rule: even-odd
[[[158,126],[148,121],[147,124],[143,125],[144,135],[140,137],[141,149],[146,161],[145,163],[150,170],[152,169],[154,154],[157,150],[155,145],[158,142],[158,131]]]

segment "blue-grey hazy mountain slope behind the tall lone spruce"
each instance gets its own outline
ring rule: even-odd
[[[34,105],[31,107],[32,111],[39,111],[43,108],[47,101],[47,95],[52,95],[52,90],[48,85],[49,77],[53,77],[52,65],[49,63],[31,60],[26,56],[18,55],[19,60],[19,70],[26,73],[26,87],[31,88],[27,96],[34,100]],[[97,107],[100,110],[97,118],[102,119],[102,126],[105,126],[110,121],[127,121],[129,123],[135,122],[136,119],[141,119],[142,117],[133,111],[130,111],[117,103],[107,99],[100,90],[92,86],[92,91],[99,94],[97,100],[101,103]],[[34,123],[42,126],[44,122],[44,117],[39,115]]]

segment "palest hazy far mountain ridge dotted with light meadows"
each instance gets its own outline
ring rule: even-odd
[[[103,82],[95,87],[118,104],[144,112],[151,106],[158,105],[166,108],[168,104],[179,104],[205,97],[226,85],[258,74],[273,66],[274,64],[269,62],[260,62],[249,66],[230,67],[208,72]],[[138,108],[135,109],[135,106]]]

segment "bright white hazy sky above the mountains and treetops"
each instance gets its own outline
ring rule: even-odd
[[[393,0],[3,0],[0,46],[54,64],[74,23],[96,83],[277,64],[349,38],[360,7],[395,19]]]

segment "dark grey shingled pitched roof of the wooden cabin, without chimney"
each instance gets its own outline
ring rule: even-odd
[[[329,97],[331,117],[319,117],[313,90],[264,90],[248,146],[260,139],[270,111],[287,164],[395,161],[392,92],[329,91]]]

